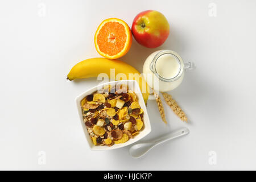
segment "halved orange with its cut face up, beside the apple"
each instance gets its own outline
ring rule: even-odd
[[[130,27],[118,18],[105,19],[94,36],[97,52],[108,59],[118,59],[125,55],[132,40]]]

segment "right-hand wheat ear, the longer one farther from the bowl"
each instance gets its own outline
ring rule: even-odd
[[[168,93],[162,92],[164,100],[166,103],[171,107],[171,109],[174,111],[174,113],[182,120],[187,122],[188,118],[184,111],[180,108],[179,105],[177,105],[177,102],[172,98],[172,96]]]

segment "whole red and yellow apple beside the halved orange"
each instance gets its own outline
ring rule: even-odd
[[[133,20],[131,32],[142,46],[156,48],[161,46],[169,36],[170,26],[166,17],[155,10],[139,13]]]

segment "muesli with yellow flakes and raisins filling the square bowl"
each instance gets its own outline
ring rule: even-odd
[[[143,109],[125,84],[105,85],[81,100],[83,120],[95,146],[125,143],[143,130]]]

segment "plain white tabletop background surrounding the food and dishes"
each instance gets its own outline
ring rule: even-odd
[[[74,99],[99,81],[66,76],[79,61],[99,56],[93,36],[102,20],[131,26],[148,9],[166,16],[169,38],[156,49],[133,41],[121,60],[142,71],[151,52],[172,49],[197,68],[169,92],[189,123],[164,104],[164,125],[148,101],[152,133],[145,139],[179,127],[191,133],[140,159],[129,156],[129,147],[90,151]],[[1,1],[0,169],[256,169],[255,9],[255,1]]]

